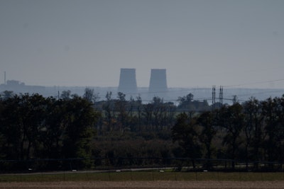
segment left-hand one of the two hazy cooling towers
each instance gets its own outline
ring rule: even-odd
[[[119,92],[121,93],[137,93],[137,84],[136,84],[136,70],[129,68],[120,69],[120,78],[119,78]]]

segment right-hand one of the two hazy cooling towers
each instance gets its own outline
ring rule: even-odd
[[[168,91],[165,69],[151,69],[149,93],[165,93]]]

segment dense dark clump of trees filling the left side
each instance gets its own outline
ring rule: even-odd
[[[59,100],[38,94],[4,96],[0,101],[0,157],[89,158],[98,118],[92,103],[78,96]],[[84,161],[82,167],[91,164]]]

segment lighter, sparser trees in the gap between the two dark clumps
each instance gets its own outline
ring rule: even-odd
[[[188,98],[190,96],[190,98]],[[106,132],[160,132],[170,130],[175,123],[175,115],[182,111],[209,110],[207,101],[193,101],[190,93],[178,99],[179,105],[164,102],[163,98],[153,97],[151,102],[143,103],[140,96],[126,101],[124,93],[117,93],[113,98],[107,92],[106,100],[94,102],[94,107],[102,113],[98,124],[99,134]]]

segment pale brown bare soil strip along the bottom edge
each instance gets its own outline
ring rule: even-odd
[[[80,182],[13,182],[0,183],[0,188],[97,188],[97,189],[154,189],[154,188],[284,188],[284,181],[80,181]]]

